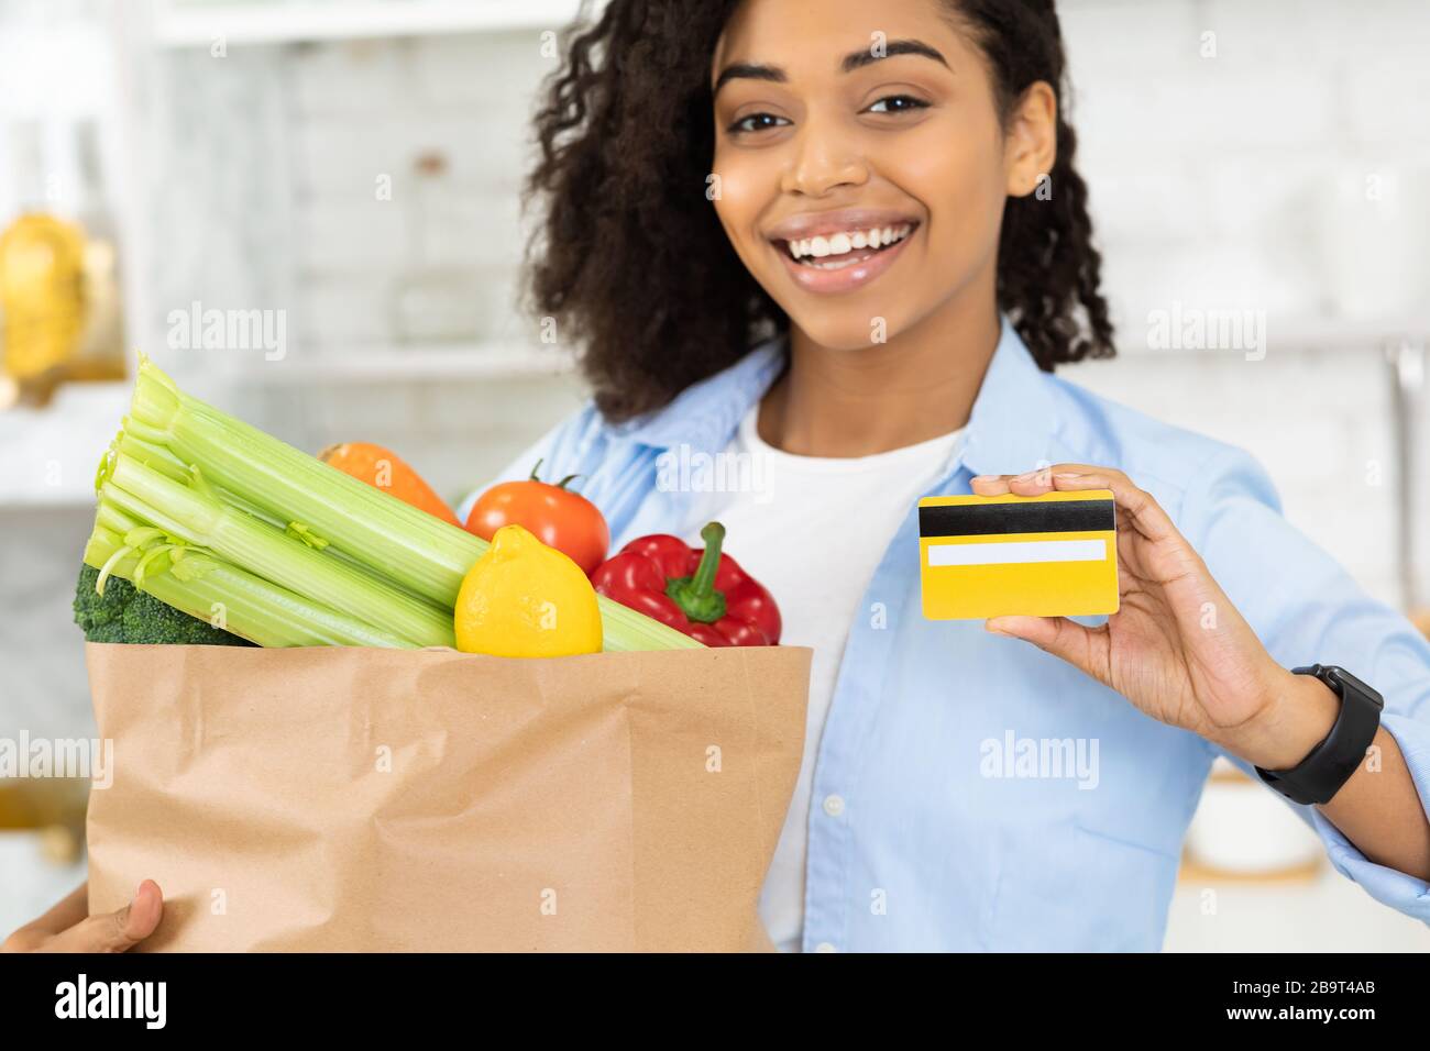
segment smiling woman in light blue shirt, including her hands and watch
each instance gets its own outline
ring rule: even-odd
[[[1062,64],[1051,0],[611,3],[532,179],[535,306],[595,398],[505,476],[583,475],[615,545],[719,518],[814,646],[782,948],[1155,949],[1217,755],[1328,794],[1297,805],[1336,868],[1430,919],[1430,646],[1250,456],[1052,375],[1113,353]],[[699,453],[759,483],[672,469]],[[1121,609],[925,621],[918,498],[1054,489],[1114,492]],[[1024,762],[1050,742],[1068,769]]]

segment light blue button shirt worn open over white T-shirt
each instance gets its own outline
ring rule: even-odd
[[[498,480],[525,478],[538,456],[552,478],[582,475],[612,551],[689,535],[701,493],[658,485],[658,458],[722,452],[784,353],[761,345],[622,425],[588,405]],[[1343,665],[1379,689],[1430,799],[1430,643],[1286,522],[1248,453],[1041,372],[1004,319],[967,440],[927,495],[1060,462],[1118,468],[1153,493],[1281,665]],[[1160,949],[1183,835],[1220,751],[981,621],[925,621],[918,562],[911,506],[849,626],[819,742],[804,949]],[[1314,808],[1294,809],[1336,869],[1430,922],[1426,882],[1369,861]]]

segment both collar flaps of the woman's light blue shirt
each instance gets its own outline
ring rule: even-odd
[[[686,388],[664,409],[615,425],[611,432],[655,449],[675,445],[722,449],[784,365],[785,339],[775,336],[728,369]],[[1040,466],[1058,429],[1050,383],[1050,375],[1038,369],[1004,315],[998,346],[974,399],[958,453],[962,463],[975,475],[1020,473]]]

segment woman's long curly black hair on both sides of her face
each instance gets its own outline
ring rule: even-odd
[[[1005,126],[1035,82],[1058,93],[1051,199],[1007,202],[998,306],[1044,370],[1110,357],[1054,1],[940,1],[987,57]],[[526,247],[526,306],[581,333],[582,370],[612,422],[659,409],[789,326],[704,192],[715,150],[709,63],[738,3],[609,0],[592,24],[583,0],[542,89],[525,203],[545,212]]]

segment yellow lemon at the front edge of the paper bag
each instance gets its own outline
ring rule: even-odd
[[[456,596],[456,648],[492,656],[601,649],[601,609],[581,566],[518,525],[502,526]]]

